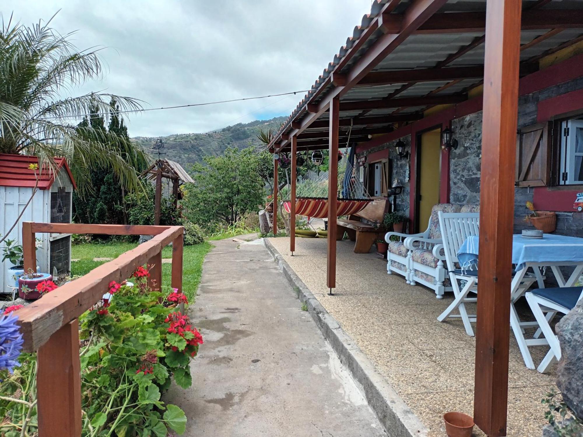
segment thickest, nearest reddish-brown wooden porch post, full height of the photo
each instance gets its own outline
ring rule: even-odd
[[[506,435],[521,1],[486,7],[474,421]]]

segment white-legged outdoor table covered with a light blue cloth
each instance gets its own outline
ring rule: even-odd
[[[464,269],[475,269],[478,260],[479,236],[468,237],[458,251],[458,260]],[[583,272],[583,238],[567,237],[565,235],[544,234],[543,238],[524,238],[521,234],[512,235],[512,264],[514,277],[510,287],[510,325],[518,342],[518,347],[524,358],[524,363],[529,369],[534,369],[529,346],[543,346],[548,344],[546,339],[539,339],[540,329],[536,331],[533,339],[525,339],[524,327],[538,326],[536,322],[521,322],[514,303],[521,297],[525,290],[519,290],[519,285],[529,268],[532,268],[539,288],[544,288],[541,267],[550,267],[559,287],[573,287]],[[565,280],[560,267],[574,266],[573,273]],[[547,313],[547,320],[556,313]]]

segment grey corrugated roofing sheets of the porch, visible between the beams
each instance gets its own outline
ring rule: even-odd
[[[335,69],[337,69],[338,64],[346,56],[347,52],[353,47],[353,45],[359,40],[359,38],[367,31],[368,26],[373,22],[373,20],[381,12],[385,4],[389,0],[375,0],[373,5],[371,5],[371,12],[363,16],[361,19],[360,26],[354,27],[352,36],[346,40],[346,44],[340,47],[338,53],[333,57],[332,62],[326,66],[322,74],[318,77],[315,83],[312,85],[311,90],[304,96],[303,100],[298,103],[297,107],[291,112],[291,115],[282,124],[280,128],[278,138],[280,133],[288,131],[290,129],[291,121],[300,119],[303,117],[302,114],[307,113],[305,110],[305,104],[308,100],[311,100],[313,96],[312,103],[317,103],[326,95],[326,93],[333,86],[326,82],[326,79],[331,75]],[[523,0],[522,5],[524,9],[528,9],[535,5],[538,0]],[[398,7],[393,13],[403,13],[410,5],[410,0],[402,0]],[[551,0],[546,5],[542,6],[542,9],[583,9],[583,1],[581,0]],[[475,12],[475,11],[485,11],[486,10],[486,0],[448,0],[447,3],[439,10],[439,12]],[[542,36],[550,29],[540,29],[540,30],[524,30],[521,33],[521,43],[526,44],[533,39]],[[370,33],[370,32],[369,32]],[[475,38],[483,36],[483,32],[466,32],[466,33],[434,33],[434,34],[413,34],[406,38],[405,41],[394,51],[392,51],[385,59],[383,59],[373,71],[395,71],[402,69],[426,69],[434,68],[440,62],[448,58],[449,55],[455,54],[462,47],[472,43]],[[552,50],[554,47],[560,44],[571,41],[583,34],[581,29],[565,29],[555,34],[552,37],[546,38],[546,40],[540,41],[538,44],[527,48],[521,52],[521,61],[526,61],[533,57],[538,57],[545,54],[547,51]],[[383,35],[381,30],[375,30],[371,33],[371,36],[361,45],[360,49],[356,54],[352,55],[349,62],[345,62],[342,69],[339,69],[339,73],[346,73],[350,71],[350,68],[359,61],[359,59],[366,53],[368,48],[377,41]],[[473,50],[469,51],[467,54],[449,62],[447,66],[476,66],[484,64],[484,44],[477,45]],[[455,81],[451,86],[446,87],[444,90],[437,92],[438,95],[447,95],[460,93],[463,90],[467,90],[473,85],[480,83],[481,78],[478,79],[463,79]],[[408,89],[402,91],[397,97],[419,97],[424,96],[431,91],[439,89],[441,86],[449,83],[451,81],[442,82],[424,82],[416,83],[413,86],[408,87]],[[342,101],[357,101],[357,100],[374,100],[383,97],[387,97],[389,94],[398,90],[402,87],[402,84],[391,84],[384,86],[357,86],[350,89],[344,96],[342,96]],[[421,110],[424,107],[419,107],[417,110]],[[372,115],[390,114],[392,110],[383,108],[382,110],[372,110],[367,111],[366,117],[371,117]],[[340,117],[352,118],[360,114],[361,111],[342,111],[340,112]],[[402,108],[399,114],[408,114],[412,111],[412,108]],[[327,115],[323,114],[319,119],[327,119]],[[309,131],[309,128],[308,130]]]

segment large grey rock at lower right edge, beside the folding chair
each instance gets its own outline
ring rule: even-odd
[[[561,360],[557,387],[577,417],[583,417],[583,300],[557,323]]]

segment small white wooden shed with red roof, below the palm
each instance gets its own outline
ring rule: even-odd
[[[38,165],[34,156],[0,154],[0,235],[6,235],[24,206],[33,195],[18,224],[10,231],[9,239],[22,244],[22,222],[71,223],[73,189],[75,180],[65,158],[55,158],[56,177],[47,169],[32,170],[30,164]],[[39,272],[58,274],[71,272],[71,234],[37,234],[42,239],[37,249]],[[3,248],[4,243],[0,244]],[[1,253],[1,252],[0,252]],[[1,259],[1,258],[0,258]],[[11,292],[13,285],[9,260],[0,266],[0,292]]]

